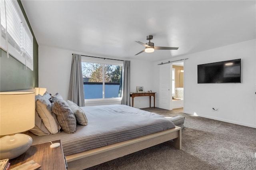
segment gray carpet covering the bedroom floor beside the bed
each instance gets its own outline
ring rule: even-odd
[[[180,111],[143,110],[163,116],[182,115],[182,149],[165,142],[87,170],[228,170],[256,169],[256,129]]]

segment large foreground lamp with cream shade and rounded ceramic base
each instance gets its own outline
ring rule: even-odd
[[[20,156],[32,144],[25,132],[35,126],[35,93],[0,92],[0,159]],[[6,135],[6,136],[4,136]]]

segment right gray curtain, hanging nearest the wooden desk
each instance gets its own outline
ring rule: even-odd
[[[130,106],[130,61],[124,61],[124,89],[121,105]]]

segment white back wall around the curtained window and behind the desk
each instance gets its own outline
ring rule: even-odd
[[[60,49],[55,47],[48,47],[40,45],[38,47],[38,84],[39,87],[46,87],[47,91],[54,95],[60,93],[64,100],[68,99],[68,88],[70,81],[70,70],[72,62],[72,53],[82,55],[89,55],[95,57],[106,57],[93,55],[88,53],[81,53],[71,51],[68,49]],[[127,59],[130,60],[130,59]],[[136,86],[144,86],[144,90],[153,89],[153,63],[149,61],[131,60],[131,85],[130,91],[136,92]],[[131,101],[131,100],[130,100]],[[92,105],[106,105],[106,104],[120,104],[120,102],[90,102],[87,106]],[[153,100],[152,100],[153,106]],[[149,107],[149,97],[135,97],[134,107],[145,108]]]

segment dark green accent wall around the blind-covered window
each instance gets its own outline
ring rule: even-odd
[[[36,42],[20,0],[18,0],[18,4],[33,35],[34,71],[31,71],[29,68],[26,69],[25,65],[11,55],[7,58],[6,51],[0,49],[0,91],[33,89],[34,87],[38,87],[38,43]]]

